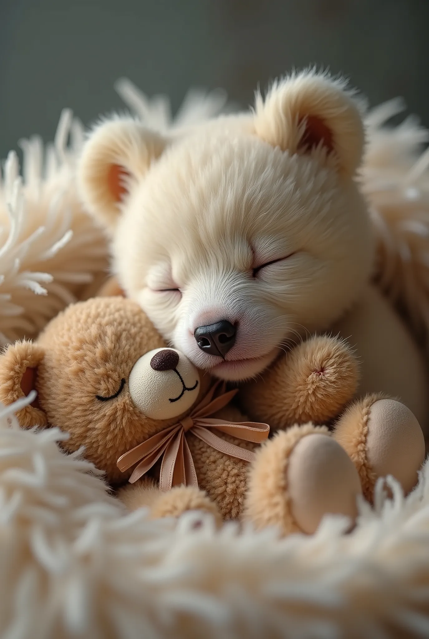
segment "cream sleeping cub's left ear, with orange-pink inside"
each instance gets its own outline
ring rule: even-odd
[[[133,119],[105,121],[89,135],[77,169],[80,196],[103,226],[112,230],[120,204],[167,141]]]

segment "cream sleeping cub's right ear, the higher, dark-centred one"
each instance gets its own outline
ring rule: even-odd
[[[345,81],[303,72],[276,81],[265,99],[256,96],[255,130],[290,153],[319,148],[323,157],[335,158],[338,171],[352,176],[363,154],[363,109]]]

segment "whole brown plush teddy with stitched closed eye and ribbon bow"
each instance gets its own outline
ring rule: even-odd
[[[167,346],[137,302],[99,297],[70,305],[35,342],[6,348],[0,400],[36,390],[17,412],[20,425],[67,431],[64,450],[83,446],[124,504],[146,506],[151,517],[199,510],[311,533],[326,512],[353,520],[357,496],[380,472],[406,491],[414,486],[424,455],[419,424],[391,399],[343,410],[359,374],[344,341],[313,337],[278,366],[280,386],[271,380],[267,392],[265,378],[252,388],[253,410],[278,428],[268,438],[267,424],[247,422],[231,401],[236,390]],[[331,435],[325,424],[337,415]]]

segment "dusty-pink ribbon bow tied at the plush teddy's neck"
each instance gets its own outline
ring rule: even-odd
[[[213,399],[220,385],[222,385],[221,394]],[[252,450],[225,442],[212,431],[218,430],[246,442],[261,443],[268,436],[269,426],[268,424],[259,424],[259,422],[228,422],[210,418],[209,415],[213,415],[226,406],[237,393],[237,389],[223,392],[224,389],[223,382],[216,382],[188,417],[184,417],[173,426],[167,426],[146,442],[140,443],[121,455],[117,460],[117,467],[121,472],[140,462],[128,481],[133,484],[163,456],[160,472],[161,490],[170,490],[172,486],[180,484],[198,486],[197,473],[188,442],[186,442],[186,433],[192,433],[215,450],[231,457],[252,461],[255,456]]]

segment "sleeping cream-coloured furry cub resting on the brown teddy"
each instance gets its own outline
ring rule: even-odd
[[[252,380],[295,339],[331,332],[356,350],[356,398],[399,397],[426,432],[425,358],[372,282],[364,110],[310,69],[195,126],[112,116],[89,133],[77,183],[118,286],[200,370]]]

